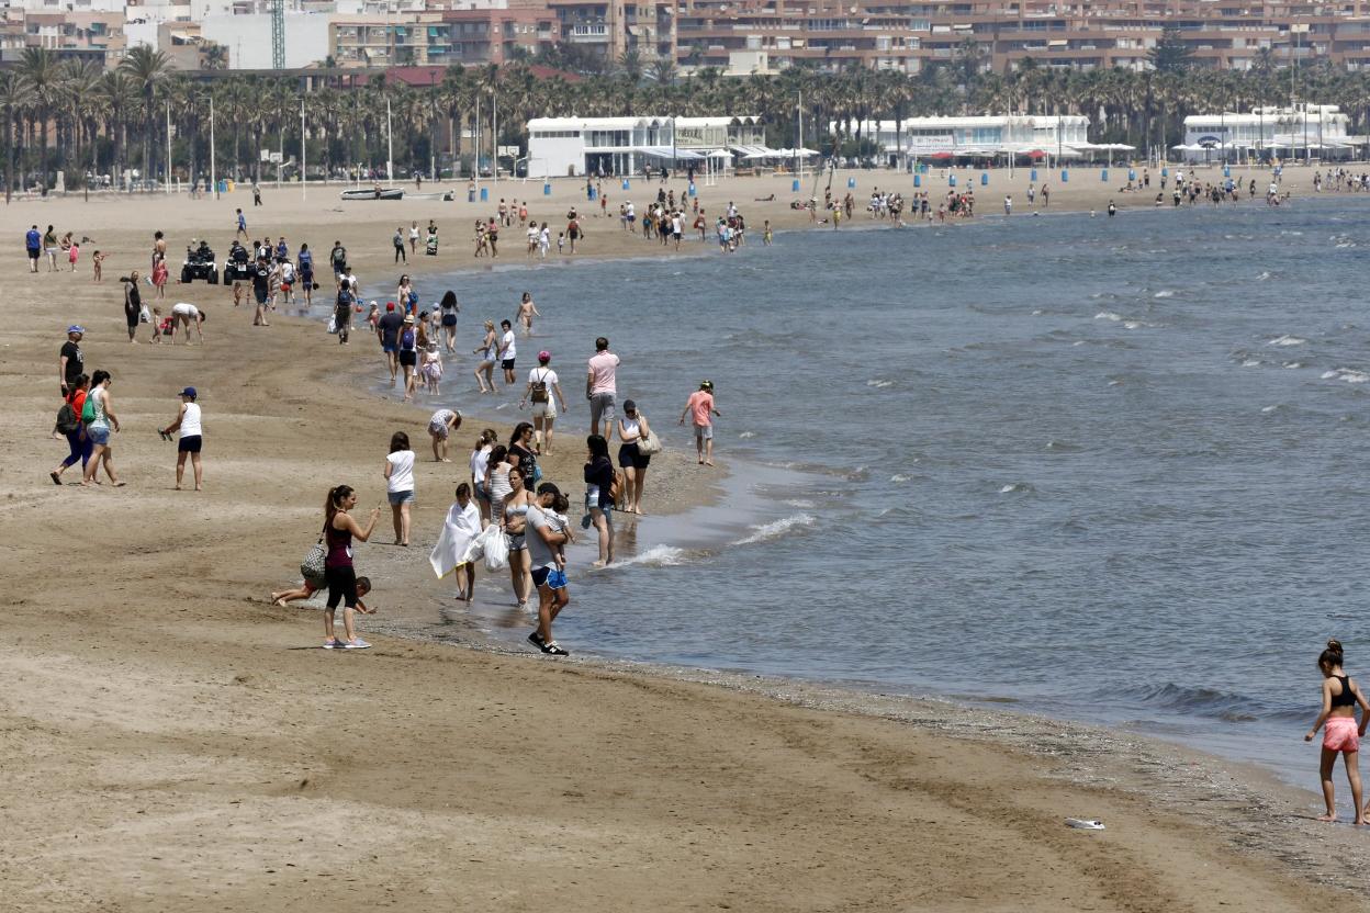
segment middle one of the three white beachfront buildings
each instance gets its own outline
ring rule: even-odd
[[[1043,155],[1070,159],[1104,146],[1089,142],[1089,118],[1082,115],[986,114],[967,118],[907,118],[864,120],[848,125],[834,120],[834,134],[862,138],[880,145],[889,164],[907,159],[955,159],[960,156]],[[1117,146],[1115,146],[1117,148]]]

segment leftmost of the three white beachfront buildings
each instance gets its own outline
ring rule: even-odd
[[[625,175],[662,166],[719,171],[734,155],[771,152],[764,140],[755,116],[534,118],[527,122],[527,174]]]

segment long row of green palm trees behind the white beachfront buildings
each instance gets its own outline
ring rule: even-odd
[[[629,53],[612,73],[570,81],[540,79],[525,63],[514,63],[453,66],[425,86],[384,75],[360,86],[319,81],[312,85],[322,88],[307,93],[304,85],[299,74],[221,73],[206,79],[177,73],[164,53],[147,47],[134,48],[107,71],[29,48],[18,67],[0,71],[5,198],[16,186],[53,186],[58,171],[67,186],[123,186],[125,179],[169,174],[204,177],[211,105],[218,171],[241,179],[263,177],[263,149],[284,148],[290,162],[300,148],[301,104],[311,177],[384,164],[386,110],[396,167],[419,172],[453,160],[469,168],[474,148],[463,149],[463,137],[475,136],[480,125],[481,149],[488,152],[495,141],[489,133],[495,110],[504,145],[525,145],[526,122],[536,116],[748,114],[763,119],[773,145],[793,145],[803,116],[806,138],[826,152],[827,144],[843,140],[862,145],[867,120],[1021,112],[1082,114],[1096,141],[1154,148],[1177,141],[1188,114],[1284,105],[1296,99],[1337,104],[1351,115],[1352,131],[1370,133],[1370,74],[1328,63],[1291,70],[1278,67],[1271,55],[1249,71],[1184,66],[1078,71],[1026,59],[1011,71],[993,73],[967,42],[947,63],[917,75],[790,67],[778,75],[729,78],[703,68],[680,77],[670,63],[643,66]]]

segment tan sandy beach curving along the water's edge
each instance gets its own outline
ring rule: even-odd
[[[1125,182],[1126,168],[1119,174]],[[1252,174],[1259,196],[1269,172]],[[1199,179],[1219,175],[1200,170]],[[838,196],[847,177],[833,183]],[[911,190],[908,175],[854,177],[859,208],[873,186]],[[984,189],[977,178],[981,211],[1001,212],[1011,192],[1018,218],[1026,182],[1026,170],[1012,183],[996,172]],[[1118,194],[1117,183],[1075,170],[1067,186],[1052,182],[1051,209],[1101,211],[1110,198],[1152,205]],[[1300,186],[1311,190],[1311,172],[1288,171],[1293,205]],[[789,178],[740,178],[699,193],[708,212],[736,201],[759,241],[764,219],[780,230],[807,226],[807,214],[789,208]],[[926,189],[936,198],[945,183],[929,178]],[[234,309],[222,286],[167,289],[167,305],[192,301],[210,315],[206,345],[129,345],[118,277],[147,267],[158,229],[173,275],[192,237],[222,256],[242,207],[249,235],[284,234],[292,249],[307,241],[319,263],[341,240],[364,297],[384,300],[399,274],[396,226],[438,222],[441,255],[425,257],[421,245],[407,267],[422,277],[490,266],[471,259],[467,241],[500,197],[526,194],[553,229],[570,205],[585,212],[584,183],[570,181],[547,197],[537,182],[500,182],[485,204],[467,204],[464,183],[456,203],[344,204],[338,190],[311,186],[301,200],[299,188],[266,185],[258,209],[248,193],[8,209],[0,278],[25,313],[0,330],[0,420],[11,428],[0,454],[0,569],[15,590],[0,661],[10,784],[0,909],[1370,906],[1358,879],[1370,843],[1349,827],[1314,823],[1310,793],[1126,734],[384,635],[364,653],[316,649],[318,613],[271,608],[266,594],[297,579],[327,487],[356,486],[359,513],[382,504],[385,442],[410,433],[418,489],[432,496],[415,512],[415,548],[385,545],[386,513],[356,564],[375,579],[369,601],[381,617],[388,605],[429,600],[438,584],[423,558],[482,423],[456,434],[452,464],[426,461],[427,409],[371,391],[366,378],[379,379],[381,360],[366,334],[341,349],[318,320],[277,316],[255,329],[251,309]],[[615,215],[622,193],[608,192]],[[641,207],[645,185],[634,181],[632,198]],[[47,264],[26,272],[21,242],[33,223],[93,238],[75,274],[48,274]],[[590,216],[586,227],[581,259],[662,250],[616,218]],[[526,261],[516,227],[501,248],[497,266]],[[108,253],[101,285],[90,282],[95,249]],[[712,245],[682,252],[712,255]],[[459,348],[475,344],[484,316],[512,307],[463,301]],[[66,453],[48,433],[68,323],[88,330],[88,370],[114,374],[123,426],[114,460],[126,487],[56,487],[47,478]],[[580,490],[588,423],[580,378],[595,331],[585,335],[584,352],[559,352],[553,363],[571,411],[544,472],[570,491]],[[444,386],[473,386],[471,367],[449,365]],[[174,445],[155,431],[174,419],[186,385],[201,390],[206,415],[199,494],[173,490]],[[696,471],[690,456],[671,453],[655,472],[655,512],[714,497],[717,476]],[[593,606],[574,602],[573,589],[567,610]],[[948,693],[970,687],[948,682]],[[1101,819],[1107,830],[1071,830],[1067,817]]]

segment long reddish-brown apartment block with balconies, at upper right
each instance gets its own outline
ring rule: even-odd
[[[553,0],[555,1],[555,0]],[[569,0],[563,0],[569,1]],[[684,0],[675,23],[681,63],[745,71],[769,66],[851,63],[917,73],[948,63],[970,44],[978,66],[1003,73],[1025,57],[1071,68],[1141,70],[1164,25],[1180,27],[1196,66],[1248,68],[1262,53],[1280,66],[1330,57],[1370,60],[1370,3],[1340,0]]]

